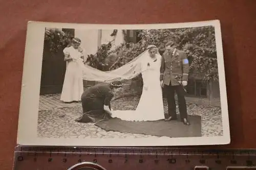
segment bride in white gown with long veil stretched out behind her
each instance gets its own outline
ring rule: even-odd
[[[162,56],[155,45],[147,46],[146,51],[129,63],[111,71],[100,71],[84,65],[83,79],[100,82],[129,80],[140,73],[143,90],[136,110],[113,110],[112,117],[130,121],[155,121],[164,119],[160,67]]]

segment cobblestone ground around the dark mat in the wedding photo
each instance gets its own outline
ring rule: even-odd
[[[124,102],[125,101],[125,102]],[[134,110],[139,102],[138,97],[125,97],[112,102],[114,110]],[[203,105],[187,104],[188,114],[202,116],[202,136],[219,136],[223,134],[221,109]],[[164,101],[164,110],[167,103]],[[178,108],[177,108],[178,112]],[[38,114],[38,137],[65,138],[140,138],[151,135],[106,132],[93,123],[75,122],[82,115],[81,104],[65,104],[59,101],[59,94],[40,96]],[[156,136],[154,136],[156,137]]]

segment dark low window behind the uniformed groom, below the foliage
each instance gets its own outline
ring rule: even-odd
[[[207,97],[207,84],[202,80],[189,79],[186,90],[188,96]]]

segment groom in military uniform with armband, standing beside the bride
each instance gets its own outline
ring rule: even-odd
[[[190,125],[187,119],[187,108],[185,101],[185,89],[188,79],[188,60],[185,52],[177,50],[174,41],[165,44],[166,51],[163,53],[161,64],[161,86],[167,97],[168,115],[166,120],[177,119],[175,92],[178,95],[179,111],[181,121]]]

